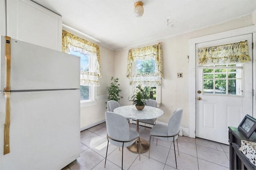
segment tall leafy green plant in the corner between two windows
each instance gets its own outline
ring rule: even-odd
[[[118,84],[119,78],[111,77],[110,80],[112,82],[110,83],[110,86],[107,87],[107,90],[108,90],[108,101],[109,100],[114,100],[114,101],[119,103],[120,99],[123,98],[120,95],[120,92],[122,92],[122,90],[120,89],[120,84]],[[105,104],[107,104],[107,102],[105,102]]]

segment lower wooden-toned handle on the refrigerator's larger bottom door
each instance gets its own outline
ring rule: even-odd
[[[10,153],[10,92],[4,92],[5,124],[4,124],[4,154]]]

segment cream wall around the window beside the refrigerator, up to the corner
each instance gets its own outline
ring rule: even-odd
[[[114,76],[114,51],[86,37],[80,31],[66,26],[63,26],[63,29],[87,41],[98,44],[100,47],[102,77],[99,79],[100,86],[97,87],[97,102],[96,105],[80,108],[80,128],[84,130],[105,121],[105,102],[108,98],[106,87],[110,85],[110,78]]]

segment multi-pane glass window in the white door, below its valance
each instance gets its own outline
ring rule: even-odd
[[[203,68],[203,93],[242,96],[242,64]]]

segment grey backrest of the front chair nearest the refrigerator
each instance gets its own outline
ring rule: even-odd
[[[127,119],[111,111],[105,112],[108,136],[119,141],[128,141],[130,128]]]

